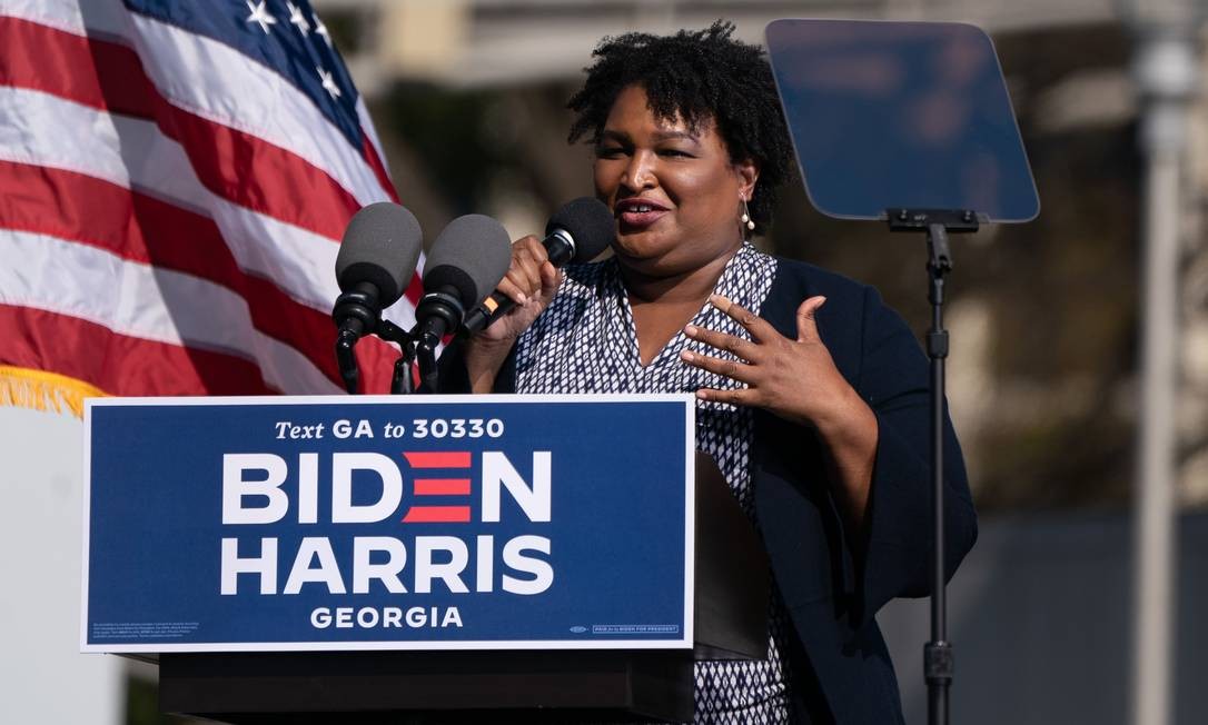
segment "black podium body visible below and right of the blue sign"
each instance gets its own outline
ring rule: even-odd
[[[750,521],[697,454],[695,650],[159,655],[159,707],[226,723],[691,721],[695,660],[767,656],[771,579]]]

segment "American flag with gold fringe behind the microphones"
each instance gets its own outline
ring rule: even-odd
[[[338,393],[332,268],[397,201],[382,157],[307,0],[0,0],[0,404]]]

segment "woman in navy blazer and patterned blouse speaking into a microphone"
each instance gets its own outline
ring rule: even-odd
[[[476,393],[695,392],[697,447],[774,574],[768,659],[698,663],[696,721],[900,723],[873,614],[928,590],[927,361],[873,289],[745,240],[790,146],[766,60],[732,31],[596,50],[570,140],[594,144],[615,254],[561,276],[516,242],[499,289],[518,304],[445,364]],[[951,575],[976,520],[951,427],[947,451]]]

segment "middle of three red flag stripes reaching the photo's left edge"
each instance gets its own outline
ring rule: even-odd
[[[332,381],[339,379],[327,314],[242,272],[205,216],[72,172],[0,161],[0,226],[91,244],[127,261],[226,286],[248,301],[257,330],[297,348]]]

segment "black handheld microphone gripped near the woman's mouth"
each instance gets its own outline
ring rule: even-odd
[[[615,236],[616,222],[608,205],[592,197],[580,197],[550,218],[541,244],[550,255],[550,262],[561,267],[571,261],[591,261],[612,243]],[[507,295],[492,292],[465,315],[463,325],[467,331],[477,332],[507,314],[515,306],[516,302]]]

